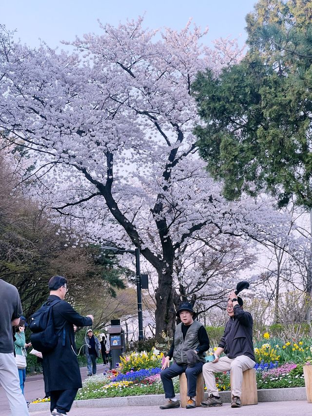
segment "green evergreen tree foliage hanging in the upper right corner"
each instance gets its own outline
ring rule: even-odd
[[[227,198],[265,187],[280,206],[295,196],[312,208],[311,7],[304,0],[273,2],[275,8],[258,1],[247,17],[245,59],[216,77],[198,74],[193,92],[205,126],[195,134]]]

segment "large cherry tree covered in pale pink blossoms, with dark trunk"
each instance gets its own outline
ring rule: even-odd
[[[156,335],[172,334],[180,299],[224,294],[252,263],[250,239],[284,241],[288,219],[268,200],[226,201],[197,156],[192,81],[239,61],[236,43],[205,47],[191,22],[101,27],[70,43],[75,53],[2,35],[2,142],[27,154],[24,180],[42,203],[90,238],[140,248],[157,273]]]

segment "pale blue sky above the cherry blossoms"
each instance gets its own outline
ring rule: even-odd
[[[17,29],[22,43],[38,46],[39,38],[55,47],[59,40],[73,40],[75,35],[100,33],[97,19],[117,25],[145,15],[145,26],[156,29],[169,26],[182,29],[190,17],[202,28],[208,26],[205,43],[219,37],[241,35],[246,39],[245,16],[255,0],[11,0],[1,4],[0,23]]]

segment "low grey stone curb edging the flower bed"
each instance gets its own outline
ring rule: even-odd
[[[224,403],[230,403],[231,392],[220,392]],[[179,399],[180,395],[176,397]],[[208,398],[205,393],[205,398]],[[145,396],[125,396],[95,398],[89,400],[75,400],[73,408],[86,407],[127,407],[127,406],[157,406],[165,400],[165,395],[145,395]],[[288,387],[283,389],[261,389],[258,390],[258,401],[289,401],[289,400],[307,400],[305,387]],[[38,412],[50,409],[50,403],[31,403],[29,412]]]

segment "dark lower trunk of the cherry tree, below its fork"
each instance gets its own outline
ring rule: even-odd
[[[173,336],[176,326],[176,310],[174,307],[174,293],[172,288],[172,271],[158,271],[158,288],[156,290],[156,338],[162,331]]]

